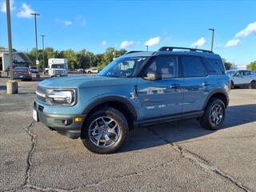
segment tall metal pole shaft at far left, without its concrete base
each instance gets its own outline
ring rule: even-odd
[[[14,80],[13,48],[12,48],[12,42],[11,42],[11,26],[10,26],[10,0],[6,0],[6,14],[7,14],[8,44],[9,44],[10,80]]]

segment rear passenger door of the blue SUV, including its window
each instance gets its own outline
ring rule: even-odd
[[[210,91],[210,78],[202,59],[197,56],[181,56],[182,62],[182,114],[202,110]]]

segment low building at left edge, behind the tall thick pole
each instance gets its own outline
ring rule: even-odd
[[[5,48],[0,49],[0,71],[6,71],[10,68],[9,51]],[[13,50],[13,63],[15,66],[29,66],[30,59],[22,52]]]

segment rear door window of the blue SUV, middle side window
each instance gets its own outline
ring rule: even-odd
[[[185,78],[204,77],[206,68],[198,57],[182,56],[182,76]]]

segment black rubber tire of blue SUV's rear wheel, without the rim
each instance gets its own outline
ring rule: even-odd
[[[219,122],[217,125],[216,124],[214,125],[214,123],[211,121],[211,118],[210,118],[210,114],[214,106],[220,106],[222,108],[221,122]],[[225,120],[225,116],[226,116],[226,107],[225,107],[225,104],[222,102],[222,100],[218,98],[211,98],[206,106],[205,113],[200,119],[200,124],[203,128],[207,130],[219,130],[222,128],[222,124]]]

